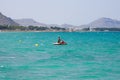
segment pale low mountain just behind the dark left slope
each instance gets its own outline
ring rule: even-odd
[[[44,23],[39,23],[33,19],[30,18],[24,18],[24,19],[14,19],[15,22],[19,23],[21,26],[47,26]]]

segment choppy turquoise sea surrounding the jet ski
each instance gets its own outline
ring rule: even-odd
[[[0,32],[0,80],[120,80],[120,32]]]

